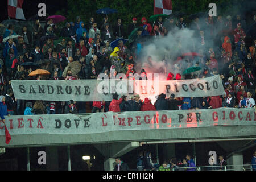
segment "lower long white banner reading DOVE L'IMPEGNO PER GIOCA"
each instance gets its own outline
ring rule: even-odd
[[[10,135],[93,134],[120,130],[179,129],[211,126],[255,126],[254,109],[145,111],[73,114],[19,115],[5,117]],[[0,121],[0,135],[5,127]]]

